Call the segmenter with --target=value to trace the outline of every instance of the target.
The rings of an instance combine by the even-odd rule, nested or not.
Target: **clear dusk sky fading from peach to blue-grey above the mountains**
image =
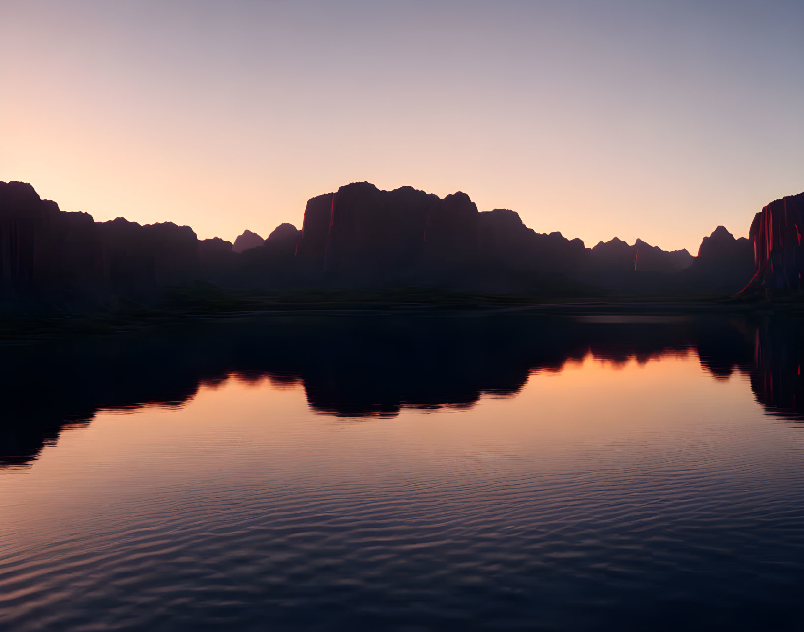
[[[368,181],[697,252],[804,191],[804,2],[0,0],[0,180],[233,240]]]

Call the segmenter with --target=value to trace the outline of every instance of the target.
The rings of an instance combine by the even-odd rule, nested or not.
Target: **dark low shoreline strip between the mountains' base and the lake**
[[[5,314],[0,341],[62,335],[105,335],[203,320],[259,320],[290,316],[493,316],[545,315],[804,315],[798,293],[784,291],[715,297],[627,295],[539,297],[461,293],[442,289],[235,290],[211,285],[164,288],[155,306],[121,302],[116,310]]]

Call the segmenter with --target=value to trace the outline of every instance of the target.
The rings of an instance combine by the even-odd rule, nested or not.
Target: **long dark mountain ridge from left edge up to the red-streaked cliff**
[[[749,246],[751,248],[749,248]],[[30,184],[0,183],[0,301],[5,306],[154,302],[158,289],[199,281],[232,288],[427,286],[592,295],[733,293],[755,272],[752,242],[719,227],[698,256],[616,237],[585,248],[535,232],[510,209],[478,211],[468,195],[352,183],[306,206],[301,230],[265,240],[199,240],[187,226],[94,222],[60,211]],[[596,290],[597,288],[597,290]]]

